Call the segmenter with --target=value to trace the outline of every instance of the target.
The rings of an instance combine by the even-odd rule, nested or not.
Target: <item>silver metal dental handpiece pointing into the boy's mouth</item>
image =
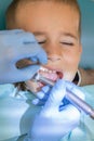
[[[45,85],[50,85],[51,87],[53,87],[55,84],[52,80],[41,76],[40,74],[36,74],[35,79]],[[90,117],[94,119],[94,110],[91,107],[91,105],[71,92],[68,88],[66,99],[69,100],[78,110],[83,111],[86,115],[90,115]]]

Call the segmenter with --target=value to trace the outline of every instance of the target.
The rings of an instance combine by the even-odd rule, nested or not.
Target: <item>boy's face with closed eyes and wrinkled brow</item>
[[[21,8],[16,21],[17,27],[31,31],[48,53],[44,67],[50,72],[43,75],[56,78],[54,70],[62,72],[63,79],[72,81],[81,54],[79,15],[75,9],[57,2],[29,3]]]

